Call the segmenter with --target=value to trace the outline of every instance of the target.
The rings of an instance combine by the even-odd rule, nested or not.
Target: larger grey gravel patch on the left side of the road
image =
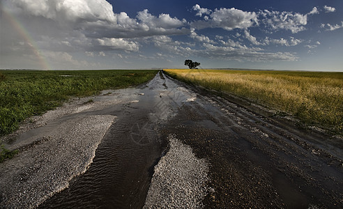
[[[0,208],[34,208],[84,173],[115,116],[72,118],[0,164]]]

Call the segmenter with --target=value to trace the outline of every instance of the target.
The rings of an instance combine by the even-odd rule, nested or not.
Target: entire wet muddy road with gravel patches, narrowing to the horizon
[[[0,208],[343,208],[343,141],[158,73],[1,139]]]

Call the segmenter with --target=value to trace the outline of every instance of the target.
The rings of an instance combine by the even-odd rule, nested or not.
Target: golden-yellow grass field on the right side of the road
[[[231,93],[317,125],[343,132],[343,72],[165,70],[184,82]]]

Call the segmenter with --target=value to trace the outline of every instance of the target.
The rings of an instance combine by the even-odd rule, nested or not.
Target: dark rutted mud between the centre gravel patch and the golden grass
[[[209,160],[206,208],[342,208],[342,149],[326,143],[334,137],[189,88],[197,99],[163,131]]]

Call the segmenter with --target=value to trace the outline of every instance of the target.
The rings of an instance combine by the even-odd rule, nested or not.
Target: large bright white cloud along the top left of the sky
[[[148,10],[131,18],[125,12],[114,13],[112,5],[105,0],[5,1],[12,13],[28,20],[26,24],[49,22],[45,27],[50,28],[46,31],[73,29],[91,38],[137,38],[190,33],[189,29],[181,28],[187,24],[185,20],[170,17],[169,14],[156,17]]]

